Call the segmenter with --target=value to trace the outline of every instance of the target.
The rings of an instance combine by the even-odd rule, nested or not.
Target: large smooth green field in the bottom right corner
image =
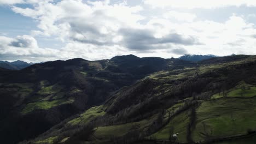
[[[196,110],[195,142],[207,139],[245,135],[256,129],[256,98],[220,98],[203,101]]]

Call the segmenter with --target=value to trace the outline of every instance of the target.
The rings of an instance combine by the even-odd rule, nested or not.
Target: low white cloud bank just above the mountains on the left
[[[36,39],[30,35],[16,38],[0,36],[0,60],[27,62],[54,61],[82,57],[89,60],[112,58],[117,55],[129,54],[125,47],[96,46],[84,43],[68,43],[60,49],[40,48]]]

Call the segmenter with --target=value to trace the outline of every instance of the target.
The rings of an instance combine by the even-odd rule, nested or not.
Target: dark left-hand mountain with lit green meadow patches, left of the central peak
[[[94,76],[103,68],[100,62],[72,59],[5,74],[0,88],[1,141],[28,139],[80,110],[101,104],[120,87],[115,84],[119,80]],[[134,80],[128,74],[123,78]]]

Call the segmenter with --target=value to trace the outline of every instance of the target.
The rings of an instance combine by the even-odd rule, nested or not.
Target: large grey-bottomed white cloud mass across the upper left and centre
[[[33,31],[33,34],[56,35],[68,43],[76,41],[96,46],[119,45],[137,52],[168,48],[168,44],[199,44],[198,39],[191,35],[169,30],[161,34],[161,38],[155,37],[158,33],[156,29],[139,23],[144,19],[138,14],[143,8],[131,7],[126,3],[110,5],[109,1],[83,3],[80,0],[65,0],[56,4],[39,2],[33,9],[14,6],[13,10],[39,21],[41,32]]]

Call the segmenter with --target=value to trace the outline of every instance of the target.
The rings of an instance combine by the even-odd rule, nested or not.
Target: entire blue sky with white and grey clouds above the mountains
[[[0,60],[256,55],[255,0],[0,0]]]

